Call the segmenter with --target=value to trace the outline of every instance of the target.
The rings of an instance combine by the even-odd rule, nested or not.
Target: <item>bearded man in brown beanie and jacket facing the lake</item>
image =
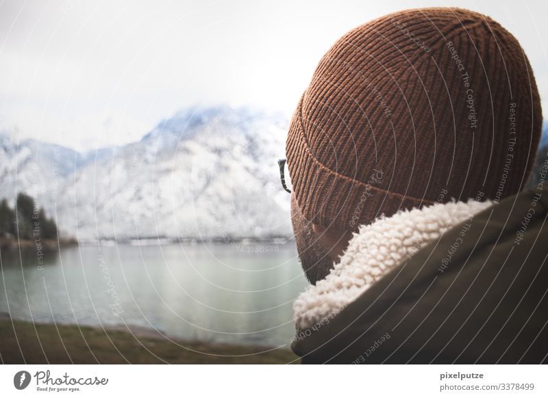
[[[406,10],[327,51],[286,145],[303,363],[547,362],[541,123],[488,16]]]

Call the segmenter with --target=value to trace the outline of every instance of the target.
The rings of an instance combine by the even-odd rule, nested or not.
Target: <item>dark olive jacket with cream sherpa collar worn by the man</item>
[[[307,363],[548,362],[548,185],[381,218],[295,302]]]

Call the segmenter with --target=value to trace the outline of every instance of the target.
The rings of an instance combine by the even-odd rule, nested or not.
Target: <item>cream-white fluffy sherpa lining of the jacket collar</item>
[[[332,317],[356,300],[390,269],[412,257],[453,226],[490,207],[492,201],[436,203],[422,209],[399,211],[360,226],[340,263],[323,280],[310,285],[295,303],[299,330]]]

